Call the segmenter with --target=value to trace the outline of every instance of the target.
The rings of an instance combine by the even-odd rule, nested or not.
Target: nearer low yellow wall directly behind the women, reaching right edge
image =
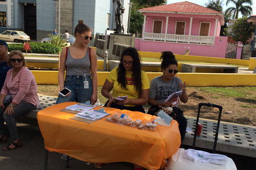
[[[58,84],[58,71],[31,71],[37,84]],[[103,86],[109,72],[97,72],[98,86]],[[147,72],[151,81],[155,77],[162,75],[157,72]],[[225,74],[225,73],[179,73],[182,81],[186,81],[187,86],[256,86],[256,74]]]

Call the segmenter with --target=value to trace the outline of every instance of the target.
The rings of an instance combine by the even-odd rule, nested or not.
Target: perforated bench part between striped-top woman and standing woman
[[[38,95],[39,97],[39,106],[37,109],[30,111],[29,113],[25,114],[26,117],[36,118],[37,112],[41,111],[42,109],[55,105],[57,97],[53,96],[44,96]]]

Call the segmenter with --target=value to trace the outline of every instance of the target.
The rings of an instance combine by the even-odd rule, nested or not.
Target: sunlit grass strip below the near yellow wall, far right
[[[226,97],[254,98],[256,87],[200,87],[199,89],[209,94]]]

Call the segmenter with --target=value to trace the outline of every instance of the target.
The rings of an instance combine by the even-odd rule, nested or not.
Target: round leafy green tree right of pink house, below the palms
[[[251,38],[255,25],[252,22],[248,22],[245,16],[244,18],[238,19],[228,28],[231,29],[231,32],[227,32],[227,35],[233,37],[234,41],[241,41],[243,44],[248,44],[247,41]]]

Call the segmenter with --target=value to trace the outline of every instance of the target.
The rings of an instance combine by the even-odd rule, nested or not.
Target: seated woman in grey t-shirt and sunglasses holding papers
[[[187,103],[188,95],[186,93],[186,82],[182,84],[180,78],[175,77],[178,73],[178,62],[172,52],[163,52],[161,58],[161,70],[163,75],[154,78],[150,82],[149,100],[148,104],[151,105],[148,114],[154,115],[160,108],[158,106],[170,107],[172,101],[165,103],[165,99],[175,91],[182,90],[180,100]],[[179,130],[181,134],[181,141],[184,139],[187,128],[187,120],[183,116],[183,112],[173,107],[173,111],[177,114],[176,121],[179,123]]]

